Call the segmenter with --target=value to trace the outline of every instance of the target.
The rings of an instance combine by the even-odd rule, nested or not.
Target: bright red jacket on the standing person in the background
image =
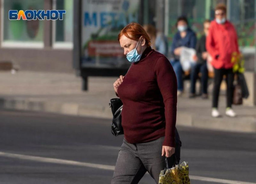
[[[232,53],[239,53],[239,49],[236,30],[229,21],[224,24],[218,24],[215,20],[211,22],[206,37],[206,50],[213,58],[212,65],[214,68],[230,69],[233,67],[233,63],[231,63]]]

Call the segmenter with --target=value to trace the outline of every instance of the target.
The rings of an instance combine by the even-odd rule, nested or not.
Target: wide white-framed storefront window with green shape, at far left
[[[2,0],[2,46],[43,47],[43,21],[9,20],[9,10],[41,10],[44,0]],[[2,27],[2,26],[1,26]]]

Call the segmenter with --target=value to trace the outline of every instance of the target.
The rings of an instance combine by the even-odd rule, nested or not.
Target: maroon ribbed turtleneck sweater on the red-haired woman
[[[163,146],[175,147],[177,79],[168,59],[148,47],[133,63],[117,89],[123,102],[124,138],[131,144],[165,136]]]

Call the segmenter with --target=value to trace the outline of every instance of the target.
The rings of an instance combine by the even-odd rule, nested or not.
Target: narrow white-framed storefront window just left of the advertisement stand
[[[53,9],[66,10],[63,20],[53,21],[53,46],[73,48],[73,0],[54,0]]]

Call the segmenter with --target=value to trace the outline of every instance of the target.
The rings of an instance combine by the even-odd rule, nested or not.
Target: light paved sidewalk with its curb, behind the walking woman
[[[116,77],[89,77],[89,90],[81,90],[75,74],[20,71],[0,72],[0,108],[45,111],[68,115],[108,118],[109,100],[115,98]],[[211,99],[178,99],[177,125],[236,132],[256,132],[256,107],[234,106],[238,116],[226,117],[225,96],[220,97],[223,117],[211,117]]]

